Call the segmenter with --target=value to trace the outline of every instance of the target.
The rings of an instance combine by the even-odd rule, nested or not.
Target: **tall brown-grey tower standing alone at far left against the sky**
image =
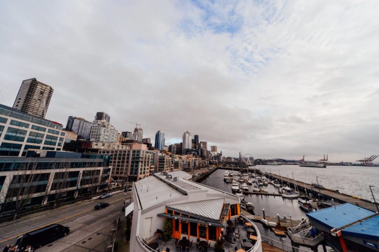
[[[13,108],[45,118],[54,89],[36,78],[23,80]]]

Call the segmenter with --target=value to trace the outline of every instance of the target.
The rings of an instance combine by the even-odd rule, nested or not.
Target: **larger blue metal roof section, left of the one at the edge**
[[[341,228],[345,225],[374,215],[375,212],[350,203],[345,203],[335,207],[325,208],[316,212],[307,213],[306,216],[311,221],[328,227],[329,229]]]

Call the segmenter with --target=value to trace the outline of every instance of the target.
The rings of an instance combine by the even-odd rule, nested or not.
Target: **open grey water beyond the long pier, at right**
[[[341,193],[373,201],[369,185],[374,185],[375,199],[379,199],[378,166],[328,166],[327,168],[300,167],[298,165],[257,165],[256,169],[308,184],[317,183]],[[377,200],[378,201],[378,200]]]

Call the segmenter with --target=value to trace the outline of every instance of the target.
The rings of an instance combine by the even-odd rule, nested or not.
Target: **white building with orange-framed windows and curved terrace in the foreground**
[[[155,173],[134,183],[133,202],[125,208],[125,216],[133,212],[129,251],[146,252],[151,242],[175,251],[175,239],[187,239],[194,245],[199,240],[213,249],[222,234],[227,234],[227,225],[233,223],[237,223],[235,229],[242,241],[248,237],[244,226],[234,221],[240,218],[241,223],[247,222],[256,230],[257,242],[246,251],[262,252],[258,227],[240,214],[240,198],[193,182],[189,180],[191,177],[183,171]],[[155,236],[155,231],[167,226],[172,228],[173,239],[162,242]],[[235,246],[240,247],[239,242]]]

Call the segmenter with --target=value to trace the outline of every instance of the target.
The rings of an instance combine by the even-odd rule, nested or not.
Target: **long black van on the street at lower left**
[[[46,244],[54,242],[70,233],[70,228],[60,224],[51,224],[38,228],[32,232],[17,237],[16,243],[18,247],[26,247],[28,245],[38,249]]]

